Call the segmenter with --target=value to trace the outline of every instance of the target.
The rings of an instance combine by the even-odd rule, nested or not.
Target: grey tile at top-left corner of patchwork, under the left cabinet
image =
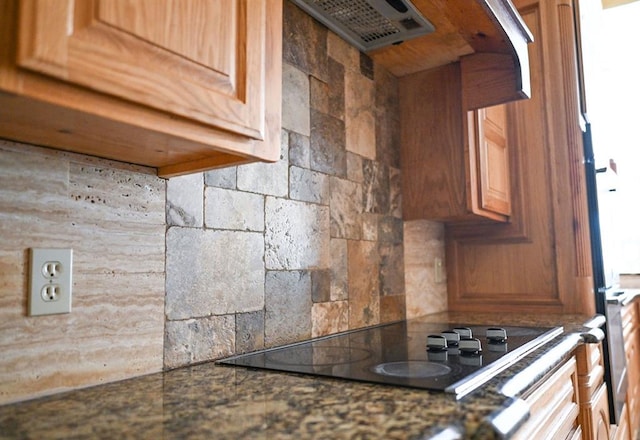
[[[167,181],[167,224],[202,227],[204,177],[202,173]]]

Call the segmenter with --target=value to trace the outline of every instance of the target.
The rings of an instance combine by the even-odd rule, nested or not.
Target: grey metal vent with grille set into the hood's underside
[[[409,0],[293,0],[363,52],[399,44],[435,28]]]

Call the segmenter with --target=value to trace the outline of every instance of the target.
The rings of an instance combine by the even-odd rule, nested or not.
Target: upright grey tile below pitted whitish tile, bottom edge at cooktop
[[[269,271],[265,290],[265,345],[281,345],[311,337],[309,273]]]

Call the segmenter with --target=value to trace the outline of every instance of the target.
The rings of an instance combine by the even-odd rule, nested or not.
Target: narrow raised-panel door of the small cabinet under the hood
[[[481,207],[498,214],[511,214],[509,150],[506,109],[497,105],[477,111],[477,157]]]

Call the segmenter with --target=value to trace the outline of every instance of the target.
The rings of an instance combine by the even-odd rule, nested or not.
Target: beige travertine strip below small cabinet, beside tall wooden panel
[[[444,262],[444,225],[428,220],[404,223],[407,318],[447,310],[447,283],[435,282],[434,259]]]

